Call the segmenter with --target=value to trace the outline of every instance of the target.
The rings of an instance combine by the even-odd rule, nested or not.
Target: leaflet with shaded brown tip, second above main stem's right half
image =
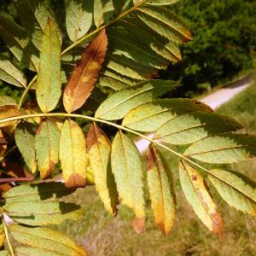
[[[156,100],[132,109],[122,125],[137,131],[156,131],[167,121],[195,111],[212,112],[212,109],[204,103],[189,99]]]

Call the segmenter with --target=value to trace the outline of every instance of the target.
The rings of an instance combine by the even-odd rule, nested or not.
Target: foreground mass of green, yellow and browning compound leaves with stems
[[[84,29],[84,35],[78,36],[78,27],[82,25],[75,23],[69,26],[67,34],[70,40],[66,49],[62,49],[66,42],[61,44],[60,28],[48,1],[20,1],[17,9],[21,17],[26,12],[34,14],[33,17],[23,16],[21,24],[5,16],[0,18],[1,36],[10,52],[21,62],[20,73],[34,75],[33,78],[27,77],[30,82],[25,84],[26,89],[18,106],[6,96],[0,100],[1,157],[5,160],[10,152],[15,150],[18,153],[16,149],[19,149],[20,160],[26,163],[15,163],[23,171],[22,174],[17,172],[14,176],[7,170],[1,178],[1,182],[5,183],[3,190],[9,190],[2,195],[1,214],[11,255],[43,252],[46,255],[85,255],[74,241],[44,226],[61,224],[67,218],[80,218],[83,209],[65,202],[62,197],[91,183],[96,184],[96,191],[108,212],[116,215],[118,205],[129,207],[136,217],[133,227],[141,233],[146,216],[145,176],[155,222],[166,235],[174,222],[176,200],[172,172],[167,168],[159,148],[165,148],[179,158],[184,194],[209,230],[220,237],[222,223],[200,172],[208,174],[219,194],[231,206],[253,214],[247,206],[237,206],[234,203],[236,198],[230,194],[234,188],[246,188],[245,196],[250,196],[254,204],[255,191],[247,183],[240,183],[240,188],[236,184],[239,178],[233,177],[233,174],[226,175],[227,179],[223,181],[224,166],[221,165],[253,158],[256,155],[256,137],[243,134],[239,131],[243,126],[235,119],[212,113],[212,109],[201,102],[159,99],[177,87],[172,80],[154,79],[161,67],[167,65],[166,60],[170,61],[165,52],[170,52],[171,44],[182,44],[191,39],[183,22],[170,10],[172,3],[176,2],[144,0],[125,1],[117,5],[117,1],[95,1],[94,20],[90,28]],[[79,1],[69,1],[67,8],[71,6],[76,11],[79,9],[79,15],[87,12]],[[69,15],[73,16],[73,10],[66,16],[67,20],[73,20]],[[131,38],[129,29],[124,25],[130,22],[127,23],[127,20],[133,20],[132,26],[143,24],[147,27],[148,41],[143,41],[141,35]],[[26,22],[30,24],[26,26]],[[166,50],[157,50],[156,44],[151,47],[150,38],[154,43],[168,45]],[[128,44],[131,42],[133,47]],[[13,78],[9,79],[9,83],[17,85],[16,67],[5,65],[4,68],[5,73],[7,70]],[[69,76],[68,82],[61,79],[61,73]],[[104,79],[105,84],[101,84]],[[65,81],[63,90],[62,80]],[[118,85],[113,85],[117,80]],[[32,92],[32,88],[36,91]],[[84,102],[90,99],[91,94],[96,97],[97,91],[105,96],[99,100],[93,117],[86,114],[91,108],[86,108]],[[29,93],[32,102],[25,105]],[[89,124],[86,123],[83,130],[77,119],[83,119],[84,123],[93,121],[89,131],[86,128]],[[122,125],[119,125],[120,119],[123,119]],[[96,126],[95,122],[102,127]],[[102,131],[105,130],[104,125],[117,129],[112,143]],[[143,131],[153,131],[155,137],[151,139]],[[128,134],[144,137],[151,143],[147,174],[143,172],[141,155]],[[184,144],[186,148],[173,149],[165,142]],[[60,168],[57,167],[59,160]],[[218,164],[220,169],[211,170],[201,162]],[[26,166],[29,174],[23,170]],[[38,172],[43,179],[54,173],[62,174],[65,185],[38,183],[41,181]],[[25,174],[27,177],[22,177]],[[21,184],[12,189],[9,182]],[[221,182],[232,188],[230,192],[219,189]],[[7,226],[6,215],[16,223]],[[9,234],[28,247],[13,248]]]

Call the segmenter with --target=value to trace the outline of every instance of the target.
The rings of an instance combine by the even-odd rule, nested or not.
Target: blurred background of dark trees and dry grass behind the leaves
[[[61,12],[65,1],[51,2]],[[216,111],[235,117],[248,132],[256,134],[256,1],[181,0],[175,11],[189,26],[194,40],[183,46],[183,61],[168,67],[161,78],[183,84],[176,96],[205,99],[215,93],[212,102],[216,102],[216,95],[229,97],[229,101],[216,106]],[[0,0],[0,15],[3,14],[17,19],[14,1]],[[1,35],[0,55],[9,56]],[[224,93],[227,86],[230,90]],[[233,96],[233,89],[239,87],[241,92]],[[18,98],[19,93],[0,81],[0,95]],[[129,209],[123,207],[113,219],[103,209],[94,187],[78,189],[69,196],[68,201],[83,205],[86,214],[79,221],[66,221],[58,229],[75,237],[95,256],[256,255],[256,220],[227,207],[212,190],[224,218],[223,240],[218,241],[186,203],[177,179],[177,159],[168,156],[168,160],[177,191],[177,219],[169,236],[164,237],[155,227],[149,207],[145,231],[138,236],[131,228],[133,215]],[[255,160],[232,168],[256,181]]]

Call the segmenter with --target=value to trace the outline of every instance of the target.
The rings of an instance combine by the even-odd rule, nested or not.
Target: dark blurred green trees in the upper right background
[[[193,96],[251,69],[255,59],[255,1],[183,0],[177,12],[186,20],[193,41],[183,49],[183,61],[165,77],[178,79],[183,93]]]

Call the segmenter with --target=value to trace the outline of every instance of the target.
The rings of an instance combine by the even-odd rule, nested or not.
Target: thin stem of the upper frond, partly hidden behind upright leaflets
[[[90,32],[89,34],[85,35],[83,38],[80,38],[78,41],[76,41],[75,43],[69,45],[66,49],[64,49],[61,52],[61,56],[62,55],[66,55],[68,51],[70,51],[71,49],[75,48],[76,46],[78,46],[79,44],[82,44],[86,39],[90,38],[91,36],[95,35],[97,32],[100,32],[102,29],[111,26],[113,23],[121,20],[125,15],[129,15],[131,12],[133,12],[134,10],[136,10],[140,5],[142,5],[143,3],[146,3],[148,0],[143,0],[140,3],[137,3],[135,6],[133,6],[131,9],[128,9],[127,11],[125,11],[124,13],[120,14],[118,17],[116,17],[115,19],[111,20],[110,22],[108,22],[105,25],[99,26],[98,28],[96,28],[95,31]],[[25,100],[25,97],[28,93],[28,91],[31,89],[32,84],[37,80],[37,75],[34,76],[34,78],[31,80],[31,82],[26,86],[26,90],[24,90],[22,96],[20,97],[20,102],[19,102],[19,109],[22,107],[22,104]]]

